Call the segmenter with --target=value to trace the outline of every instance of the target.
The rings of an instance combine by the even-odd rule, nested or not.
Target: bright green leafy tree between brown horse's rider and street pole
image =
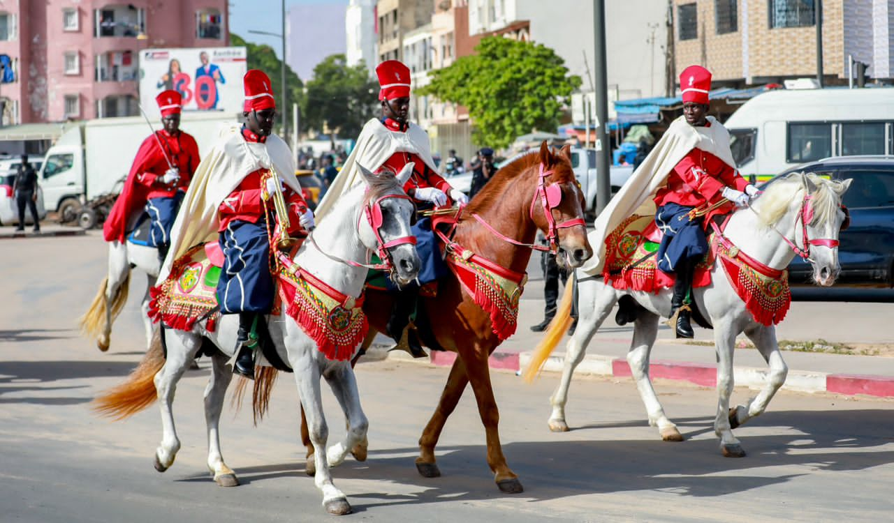
[[[549,47],[505,37],[486,37],[477,54],[432,71],[420,95],[468,107],[477,143],[506,147],[532,129],[559,126],[562,106],[580,86]]]

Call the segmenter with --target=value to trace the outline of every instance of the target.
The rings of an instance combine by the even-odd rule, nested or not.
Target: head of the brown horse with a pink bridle
[[[593,249],[586,239],[584,193],[571,169],[570,146],[552,154],[544,141],[537,159],[539,165],[531,167],[537,171],[531,220],[544,232],[550,247],[565,254],[566,265],[580,267],[593,255]]]

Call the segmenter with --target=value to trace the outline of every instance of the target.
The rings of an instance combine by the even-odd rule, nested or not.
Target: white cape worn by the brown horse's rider
[[[394,153],[417,154],[423,162],[437,172],[438,168],[432,159],[431,145],[428,142],[428,134],[415,123],[409,124],[407,132],[392,131],[387,129],[381,121],[372,119],[367,121],[357,138],[357,145],[348,156],[348,160],[342,165],[342,170],[335,177],[333,183],[326,190],[323,200],[316,206],[314,212],[317,220],[325,217],[331,211],[335,202],[354,186],[363,183],[358,165],[375,172],[382,167]]]

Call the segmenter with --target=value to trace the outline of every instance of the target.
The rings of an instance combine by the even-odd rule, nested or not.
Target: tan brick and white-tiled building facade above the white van
[[[675,65],[696,63],[718,85],[746,87],[815,77],[812,0],[674,0]],[[871,79],[894,78],[894,0],[822,2],[824,83],[848,82],[849,61]]]

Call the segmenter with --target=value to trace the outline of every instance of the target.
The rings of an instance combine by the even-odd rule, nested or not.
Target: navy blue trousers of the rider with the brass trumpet
[[[220,233],[223,270],[217,282],[221,313],[269,312],[274,303],[266,221],[233,220]]]

